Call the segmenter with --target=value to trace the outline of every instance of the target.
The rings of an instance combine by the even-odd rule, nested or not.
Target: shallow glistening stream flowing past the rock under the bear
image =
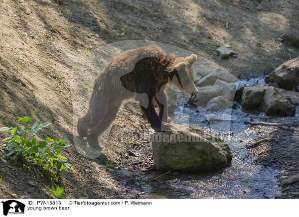
[[[262,78],[252,79],[239,82],[237,87],[262,83]],[[222,138],[233,153],[232,164],[214,173],[166,174],[156,182],[141,181],[140,185],[150,199],[275,199],[282,194],[277,181],[280,171],[255,163],[250,150],[243,149],[272,127],[252,127],[244,121],[287,123],[296,121],[298,115],[298,107],[295,117],[270,117],[242,108],[206,112],[204,108],[178,106],[170,116],[172,122],[190,123]],[[210,117],[224,121],[209,123]],[[147,178],[159,175],[148,175]]]

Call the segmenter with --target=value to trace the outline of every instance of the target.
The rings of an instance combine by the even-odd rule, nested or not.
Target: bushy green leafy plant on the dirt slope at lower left
[[[33,136],[51,123],[36,121],[31,127],[32,117],[19,117],[23,125],[18,127],[2,127],[0,131],[10,132],[10,136],[3,139],[2,147],[7,152],[6,156],[14,162],[37,166],[41,172],[47,171],[51,179],[61,183],[60,171],[71,166],[67,158],[61,155],[61,150],[70,146],[65,137],[58,141],[46,137],[45,141],[37,141]]]

